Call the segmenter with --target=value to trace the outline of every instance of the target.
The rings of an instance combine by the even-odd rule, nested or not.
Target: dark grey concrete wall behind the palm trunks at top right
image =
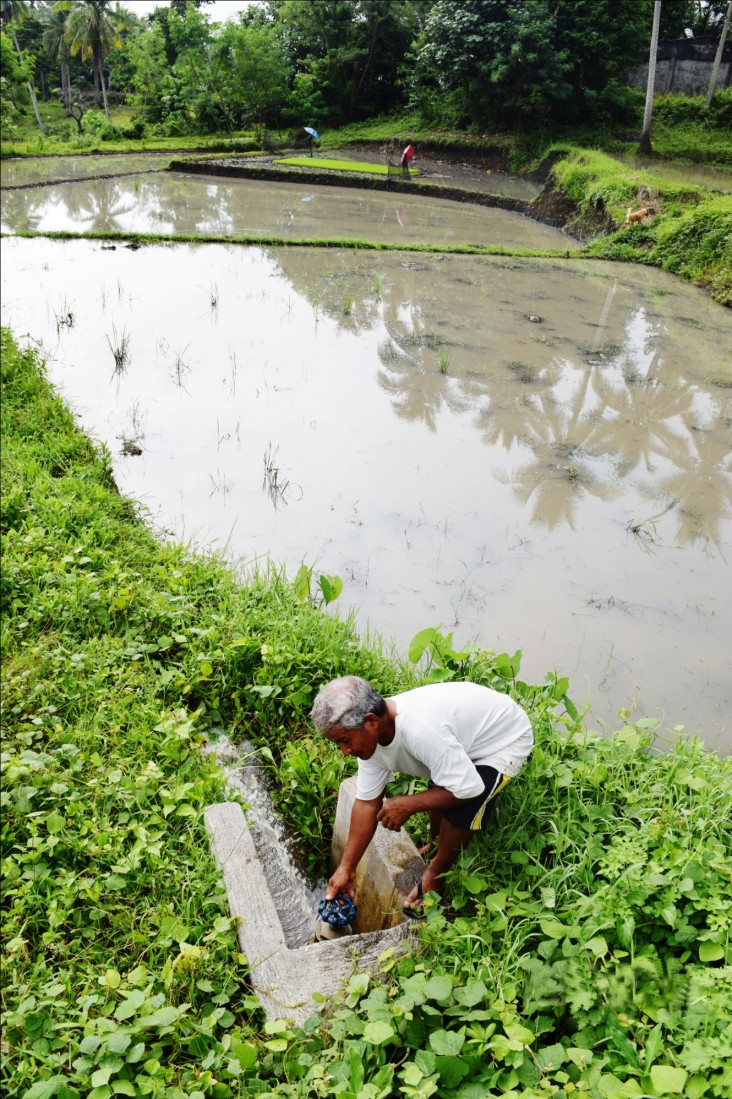
[[[699,96],[707,95],[719,38],[679,38],[678,42],[662,42],[656,54],[655,95]],[[633,88],[645,91],[648,66],[640,65],[629,75],[628,82]],[[722,62],[717,77],[717,88],[729,88],[732,84],[732,42],[724,44]]]

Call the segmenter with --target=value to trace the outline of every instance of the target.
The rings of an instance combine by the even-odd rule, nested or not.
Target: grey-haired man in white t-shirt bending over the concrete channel
[[[348,837],[326,898],[353,897],[356,867],[378,824],[398,832],[413,813],[426,812],[430,842],[420,854],[432,857],[404,899],[404,910],[420,914],[423,893],[443,892],[445,873],[529,756],[529,718],[507,695],[478,684],[431,684],[384,699],[357,676],[326,684],[311,718],[344,755],[358,759]],[[428,778],[428,789],[385,799],[395,771]]]

